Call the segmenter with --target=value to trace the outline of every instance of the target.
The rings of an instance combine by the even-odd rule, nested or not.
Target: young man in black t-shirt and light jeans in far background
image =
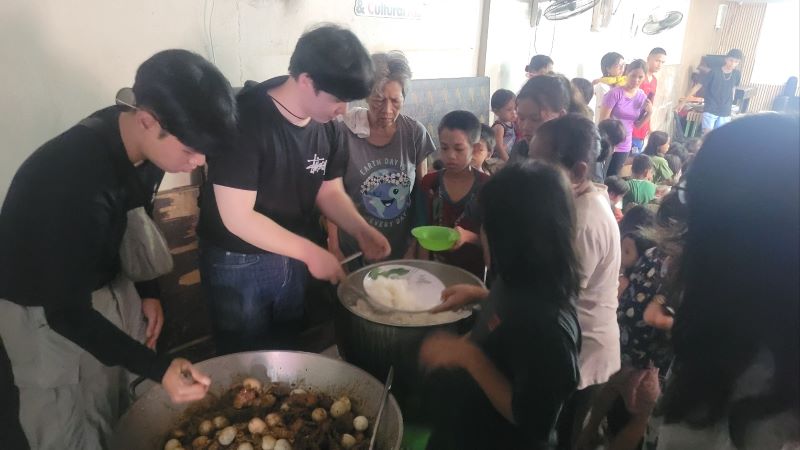
[[[725,64],[711,69],[703,81],[692,86],[687,94],[687,97],[693,97],[703,89],[703,134],[731,121],[733,97],[742,80],[741,72],[736,70],[741,60],[742,51],[732,49],[725,56]]]

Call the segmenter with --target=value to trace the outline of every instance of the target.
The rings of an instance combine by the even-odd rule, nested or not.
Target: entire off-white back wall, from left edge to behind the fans
[[[591,31],[592,12],[563,21],[542,17],[531,27],[531,0],[417,2],[424,5],[418,20],[358,17],[356,0],[3,0],[0,200],[36,147],[109,105],[118,88],[132,83],[138,64],[165,48],[198,52],[240,85],[285,73],[300,34],[328,21],[353,29],[370,51],[403,50],[415,78],[485,74],[492,91],[516,91],[537,53],[551,55],[568,77],[593,79],[608,51],[630,61],[661,46],[669,56],[658,75],[652,123],[667,130],[691,69],[715,50],[724,31],[714,27],[721,0],[613,2],[620,7],[599,31]],[[655,8],[681,11],[684,20],[657,36],[635,31]],[[168,177],[164,188],[188,181]]]

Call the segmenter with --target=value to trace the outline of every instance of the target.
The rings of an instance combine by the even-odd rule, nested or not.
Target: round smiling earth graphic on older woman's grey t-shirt
[[[411,181],[404,172],[379,169],[361,183],[361,201],[373,217],[391,220],[402,214],[409,203]]]

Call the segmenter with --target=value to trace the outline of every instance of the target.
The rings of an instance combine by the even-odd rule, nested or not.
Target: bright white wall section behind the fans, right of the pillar
[[[674,97],[676,78],[681,72],[686,51],[684,37],[692,19],[691,8],[704,0],[637,0],[612,2],[619,4],[605,28],[592,31],[593,12],[588,11],[566,20],[550,21],[544,16],[532,27],[530,1],[492,0],[489,14],[487,45],[487,75],[491,89],[518,91],[525,82],[524,67],[535,54],[550,55],[555,70],[569,78],[598,78],[600,58],[607,52],[621,53],[626,61],[645,58],[653,47],[663,47],[668,53],[667,66],[658,75],[659,90],[652,123],[654,129],[666,129],[669,124],[669,103]],[[541,8],[551,5],[539,2]],[[641,26],[651,13],[679,11],[684,20],[677,27],[655,36],[641,32]]]

